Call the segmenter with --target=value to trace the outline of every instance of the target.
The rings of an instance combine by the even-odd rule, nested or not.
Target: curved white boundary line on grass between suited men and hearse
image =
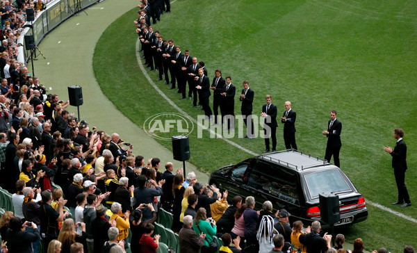
[[[182,113],[184,116],[188,117],[188,119],[191,120],[192,122],[194,122],[195,124],[197,124],[197,126],[202,127],[203,129],[206,128],[201,123],[197,122],[197,120],[195,120],[195,118],[191,117],[190,115],[188,115],[188,113],[186,113],[181,108],[179,108],[177,106],[177,104],[175,104],[169,97],[167,97],[167,95],[165,95],[165,93],[162,92],[162,90],[159,89],[158,86],[156,86],[154,81],[152,81],[149,74],[147,74],[147,72],[145,70],[145,67],[143,67],[142,61],[140,60],[141,56],[139,54],[139,50],[140,50],[139,49],[139,44],[140,44],[140,40],[138,39],[136,41],[136,58],[138,59],[138,64],[139,64],[140,70],[142,70],[142,72],[145,75],[147,81],[149,81],[149,83],[152,85],[152,87],[154,87],[154,89],[159,93],[159,95],[161,95],[173,108],[175,108],[177,111],[179,111],[179,113]],[[232,142],[231,140],[228,140],[228,139],[224,138],[221,134],[216,133],[215,131],[213,131],[209,128],[206,129],[206,130],[208,132],[210,132],[211,134],[215,135],[217,138],[220,138],[220,139],[224,140],[225,142],[229,143],[230,145],[233,145],[234,147],[237,147],[238,149],[240,149],[244,152],[247,152],[248,154],[252,154],[252,156],[258,156],[259,155],[259,154],[256,154],[256,153],[250,151],[249,149],[245,149],[245,147],[242,147],[242,146],[236,144],[235,142]]]

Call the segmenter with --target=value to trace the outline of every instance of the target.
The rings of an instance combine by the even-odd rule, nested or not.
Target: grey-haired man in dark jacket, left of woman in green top
[[[181,253],[200,252],[206,235],[197,233],[193,230],[193,217],[186,215],[184,217],[183,228],[179,231],[179,251]]]

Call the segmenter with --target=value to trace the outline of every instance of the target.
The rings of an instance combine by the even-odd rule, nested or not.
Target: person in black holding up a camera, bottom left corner
[[[38,240],[39,230],[35,223],[27,221],[22,224],[19,217],[10,218],[9,230],[6,233],[9,252],[31,253],[32,243]],[[32,228],[33,232],[26,229]]]

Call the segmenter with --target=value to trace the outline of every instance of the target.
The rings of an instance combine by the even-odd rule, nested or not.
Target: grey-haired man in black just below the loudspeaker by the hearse
[[[332,247],[330,242],[332,241],[332,235],[326,234],[320,236],[321,225],[320,222],[313,221],[311,223],[311,232],[307,234],[304,238],[300,238],[300,243],[306,245],[307,252],[309,253],[325,253],[327,250]]]

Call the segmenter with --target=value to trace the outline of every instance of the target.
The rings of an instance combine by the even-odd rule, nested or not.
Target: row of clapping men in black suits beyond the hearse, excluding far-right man
[[[138,30],[137,32],[142,42],[142,50],[145,55],[145,64],[147,64],[149,70],[157,69],[159,72],[159,78],[156,81],[163,80],[162,76],[164,75],[165,84],[171,84],[170,89],[175,89],[176,84],[178,84],[177,92],[181,94],[179,99],[186,99],[186,86],[188,83],[188,99],[193,99],[192,106],[197,106],[198,94],[199,105],[202,106],[206,119],[208,121],[214,120],[213,124],[219,124],[218,115],[220,108],[221,123],[226,123],[227,129],[233,130],[236,87],[231,83],[231,76],[223,79],[221,70],[215,70],[215,76],[210,85],[204,62],[200,61],[198,63],[196,57],[190,56],[190,51],[186,50],[182,54],[181,47],[174,46],[173,40],[163,40],[163,36],[158,31],[154,32],[152,26],[147,27],[143,25],[142,29],[138,28]],[[168,75],[168,72],[170,72],[170,75]],[[211,97],[210,90],[213,90],[213,112],[209,105],[209,98]],[[249,115],[252,115],[253,99],[254,91],[249,88],[249,82],[244,81],[239,101],[242,102],[240,112],[244,115],[246,127],[250,124],[250,127],[247,127],[246,138],[254,138],[254,125],[252,120],[248,120]],[[272,152],[274,152],[277,147],[277,106],[272,104],[272,97],[270,95],[267,95],[265,100],[266,104],[263,105],[261,116],[267,117],[267,119],[268,117],[270,118],[270,120],[266,121],[265,125],[267,127],[264,129],[266,135],[265,152],[270,151],[269,136],[272,139]],[[284,111],[281,117],[281,123],[284,124],[285,146],[286,149],[297,149],[295,142],[295,120],[297,113],[292,110],[290,101],[285,102],[285,108],[286,111]],[[227,115],[228,117],[225,117]],[[332,122],[335,118],[336,113],[334,111],[334,118],[331,113],[327,133],[323,131],[323,134],[328,137],[325,158],[329,161],[334,156],[334,163],[340,167],[338,153],[341,147],[341,123],[336,122],[338,124],[333,125]],[[224,119],[226,119],[226,122],[224,122]]]

